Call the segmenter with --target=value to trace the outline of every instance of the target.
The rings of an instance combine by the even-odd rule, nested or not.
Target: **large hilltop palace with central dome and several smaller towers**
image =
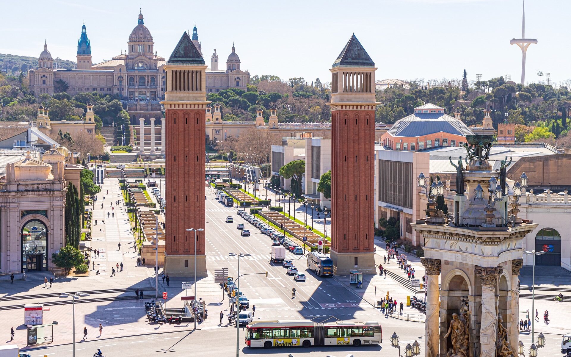
[[[202,51],[196,26],[192,31],[192,42]],[[137,25],[127,41],[123,53],[94,64],[91,55],[91,41],[87,37],[85,23],[77,45],[77,69],[57,69],[53,57],[47,50],[47,43],[39,57],[37,70],[29,71],[30,89],[36,97],[42,93],[54,94],[64,91],[71,95],[82,92],[118,94],[133,119],[160,118],[159,101],[164,98],[164,57],[155,49],[151,31],[144,25],[143,14],[139,13]],[[202,52],[201,52],[202,54]],[[211,57],[211,68],[206,71],[208,92],[237,87],[246,90],[250,73],[240,69],[240,58],[234,45],[228,56],[226,69],[219,69],[216,50]],[[138,123],[138,122],[137,122]]]

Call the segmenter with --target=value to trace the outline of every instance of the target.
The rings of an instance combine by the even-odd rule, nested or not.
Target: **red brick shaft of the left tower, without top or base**
[[[203,228],[205,128],[204,110],[166,110],[166,252],[194,254],[194,232]],[[204,232],[197,232],[196,254],[204,252]]]

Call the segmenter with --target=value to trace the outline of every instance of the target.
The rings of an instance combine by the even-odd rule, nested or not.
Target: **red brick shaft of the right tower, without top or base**
[[[331,248],[372,252],[375,111],[333,110],[331,122]]]

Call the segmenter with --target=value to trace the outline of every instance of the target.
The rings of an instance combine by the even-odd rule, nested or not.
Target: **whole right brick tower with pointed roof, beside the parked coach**
[[[331,259],[336,275],[375,274],[375,63],[353,35],[330,70]]]

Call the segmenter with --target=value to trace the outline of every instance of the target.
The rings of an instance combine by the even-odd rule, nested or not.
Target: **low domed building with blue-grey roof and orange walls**
[[[444,108],[427,103],[415,113],[396,121],[381,136],[390,150],[418,151],[438,146],[462,146],[472,131],[460,119],[444,113]]]

